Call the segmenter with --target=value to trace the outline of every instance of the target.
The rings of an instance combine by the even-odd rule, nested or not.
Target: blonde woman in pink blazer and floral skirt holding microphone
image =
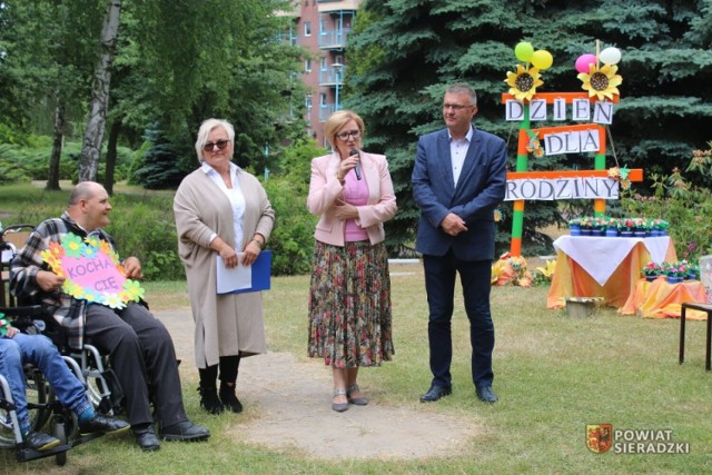
[[[383,155],[360,150],[364,121],[334,112],[324,125],[333,152],[312,160],[307,208],[320,216],[314,237],[309,289],[309,356],[334,373],[332,408],[366,405],[358,388],[360,366],[379,366],[394,354],[390,277],[384,221],[396,197]]]

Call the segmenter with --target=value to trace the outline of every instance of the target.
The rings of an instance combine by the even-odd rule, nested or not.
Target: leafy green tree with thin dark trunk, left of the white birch
[[[3,110],[2,117],[26,135],[53,136],[47,181],[50,190],[59,189],[59,160],[65,135],[71,131],[68,127],[83,117],[82,99],[89,91],[100,18],[96,7],[93,0],[38,0],[2,9],[0,44],[6,53],[0,75],[7,75],[7,82],[0,83],[8,87],[0,86],[0,97],[14,105]]]

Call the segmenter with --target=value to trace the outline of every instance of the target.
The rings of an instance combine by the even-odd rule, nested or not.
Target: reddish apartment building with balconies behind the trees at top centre
[[[288,40],[309,50],[305,58],[301,81],[305,97],[305,119],[308,133],[325,147],[324,121],[342,108],[346,43],[362,0],[298,0],[294,10],[283,12],[294,19]]]

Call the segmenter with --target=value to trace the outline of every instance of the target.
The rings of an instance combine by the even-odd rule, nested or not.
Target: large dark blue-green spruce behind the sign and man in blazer
[[[507,139],[515,156],[516,135],[503,120],[500,101],[522,40],[554,56],[540,91],[581,90],[575,59],[595,52],[596,40],[620,48],[622,99],[611,127],[617,162],[649,172],[686,162],[692,148],[709,140],[712,126],[710,13],[710,0],[366,0],[349,36],[345,105],[366,119],[367,145],[389,158],[398,199],[398,215],[387,224],[389,244],[413,239],[415,144],[442,127],[438,105],[447,85],[466,81],[478,91],[476,126]],[[530,164],[589,167],[570,156]],[[511,205],[502,209],[498,246],[506,249]],[[561,222],[555,204],[527,202],[524,249],[541,250],[546,239],[536,229],[553,222]]]

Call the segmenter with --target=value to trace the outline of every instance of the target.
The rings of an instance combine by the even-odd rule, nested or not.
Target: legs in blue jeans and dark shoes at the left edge
[[[126,422],[95,413],[83,384],[69,369],[49,338],[21,334],[6,320],[0,321],[4,323],[0,328],[0,374],[10,386],[20,433],[27,447],[43,452],[61,443],[56,437],[32,431],[22,369],[27,363],[44,375],[59,402],[77,415],[79,433],[82,436],[98,432],[111,434],[128,431],[129,425]]]

